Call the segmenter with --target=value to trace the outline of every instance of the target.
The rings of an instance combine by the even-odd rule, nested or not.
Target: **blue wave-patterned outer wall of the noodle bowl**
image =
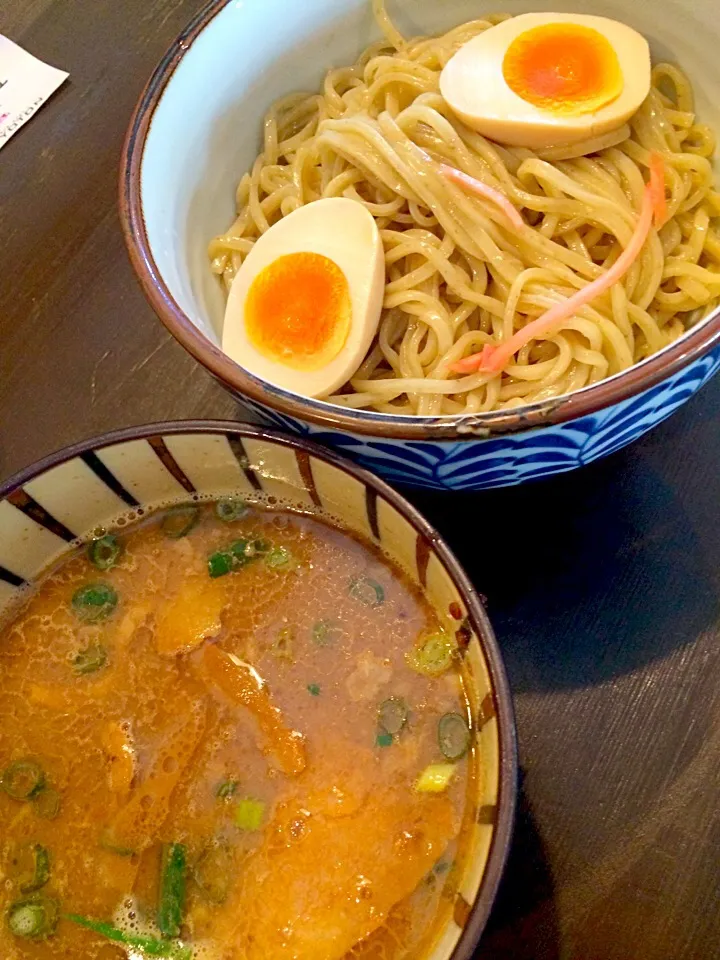
[[[662,423],[720,369],[720,347],[673,377],[598,413],[549,427],[463,441],[373,440],[304,423],[243,398],[264,420],[310,436],[386,480],[433,490],[482,490],[575,470]]]

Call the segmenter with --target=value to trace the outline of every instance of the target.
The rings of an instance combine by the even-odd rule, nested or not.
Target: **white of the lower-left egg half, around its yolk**
[[[319,370],[295,370],[276,362],[248,339],[245,304],[258,274],[279,257],[317,253],[334,261],[348,283],[350,330],[340,352]],[[345,197],[315,200],[283,217],[264,233],[233,280],[225,309],[222,347],[250,373],[306,397],[341,387],[362,363],[377,333],[385,291],[385,258],[377,224],[361,203]]]

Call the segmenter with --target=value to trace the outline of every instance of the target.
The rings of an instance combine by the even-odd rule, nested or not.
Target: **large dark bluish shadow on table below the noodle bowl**
[[[668,475],[631,448],[520,487],[409,492],[488,598],[517,692],[607,681],[716,621],[707,543]],[[712,525],[712,490],[695,494]]]

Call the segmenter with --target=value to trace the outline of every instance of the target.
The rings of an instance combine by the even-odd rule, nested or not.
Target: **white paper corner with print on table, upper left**
[[[0,34],[0,147],[37,113],[67,76]]]

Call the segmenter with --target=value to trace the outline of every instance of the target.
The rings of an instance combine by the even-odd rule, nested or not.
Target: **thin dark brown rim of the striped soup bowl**
[[[518,794],[518,747],[515,725],[515,710],[510,683],[505,669],[500,645],[495,636],[485,607],[460,561],[428,520],[402,494],[370,471],[357,466],[345,457],[320,444],[305,438],[288,436],[265,427],[239,423],[236,420],[171,420],[146,423],[135,427],[123,427],[99,434],[87,440],[73,443],[48,454],[35,463],[14,473],[0,483],[0,501],[18,488],[41,476],[54,467],[61,466],[82,454],[93,452],[114,444],[143,440],[156,436],[177,434],[209,434],[213,436],[234,435],[241,439],[265,440],[293,450],[302,450],[319,460],[350,474],[363,486],[370,487],[387,500],[403,516],[413,529],[432,546],[467,607],[468,617],[481,643],[490,676],[492,696],[498,731],[498,797],[497,817],[494,823],[485,871],[480,882],[470,914],[450,960],[471,960],[480,936],[485,929],[490,911],[497,896],[498,887],[507,863],[512,841],[515,810]]]

